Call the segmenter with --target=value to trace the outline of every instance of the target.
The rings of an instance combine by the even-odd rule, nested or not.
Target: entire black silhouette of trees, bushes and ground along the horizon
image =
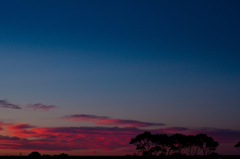
[[[136,145],[137,154],[126,156],[69,156],[41,155],[37,151],[28,156],[0,156],[0,159],[239,159],[239,155],[219,155],[215,153],[218,142],[206,134],[151,134],[144,132],[132,138],[130,144]],[[234,145],[240,151],[240,141]]]

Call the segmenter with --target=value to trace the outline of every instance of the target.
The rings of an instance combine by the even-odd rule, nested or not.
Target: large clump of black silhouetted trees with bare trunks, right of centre
[[[210,155],[218,147],[218,142],[206,134],[183,135],[151,134],[144,132],[132,138],[130,144],[136,145],[137,155]]]

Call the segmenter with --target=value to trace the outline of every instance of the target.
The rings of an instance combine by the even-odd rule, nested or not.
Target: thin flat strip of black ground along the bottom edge
[[[52,157],[42,156],[40,158],[28,156],[0,156],[0,159],[240,159],[238,156],[68,156]]]

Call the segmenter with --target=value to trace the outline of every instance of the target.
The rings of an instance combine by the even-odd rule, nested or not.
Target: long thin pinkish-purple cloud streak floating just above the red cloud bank
[[[137,120],[114,119],[106,116],[96,116],[87,114],[75,114],[65,116],[61,119],[72,121],[87,121],[98,125],[110,125],[118,127],[148,127],[148,126],[163,126],[163,123],[142,122]]]

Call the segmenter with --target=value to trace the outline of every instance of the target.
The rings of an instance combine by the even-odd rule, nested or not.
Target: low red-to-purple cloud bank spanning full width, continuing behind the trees
[[[133,154],[135,147],[129,145],[131,138],[149,131],[138,128],[119,127],[35,127],[27,123],[0,124],[4,128],[0,135],[0,149],[24,151],[84,151],[95,155]],[[168,135],[182,133],[185,135],[205,133],[220,143],[217,152],[225,153],[234,150],[240,131],[227,129],[188,129],[184,127],[166,127],[152,129],[152,134]],[[230,146],[228,146],[230,145]],[[81,154],[78,154],[81,155]],[[91,154],[88,154],[91,155]]]

